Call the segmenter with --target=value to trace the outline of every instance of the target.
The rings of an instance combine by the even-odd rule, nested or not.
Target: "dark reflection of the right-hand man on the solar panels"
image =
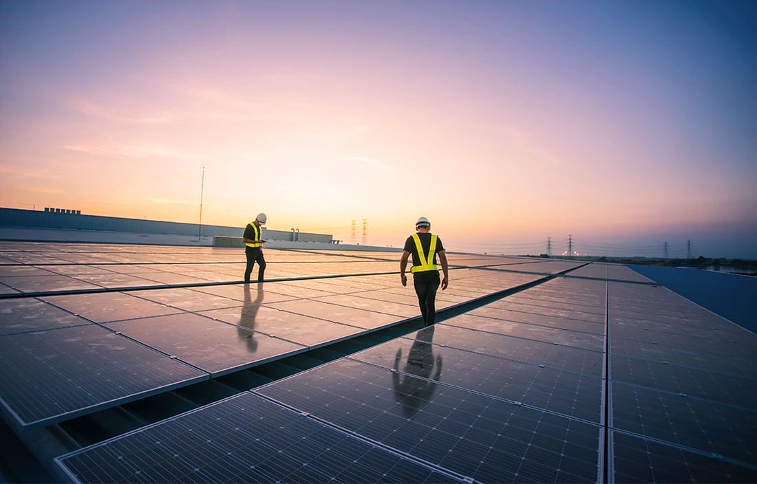
[[[402,359],[402,348],[397,349],[394,357],[394,399],[402,404],[405,417],[413,417],[418,411],[431,401],[441,377],[441,355],[434,355],[434,326],[425,327],[418,331],[407,362],[399,368]],[[436,368],[435,368],[436,367]],[[402,371],[404,374],[400,374]],[[434,376],[431,377],[433,372]],[[413,375],[413,376],[410,376]]]

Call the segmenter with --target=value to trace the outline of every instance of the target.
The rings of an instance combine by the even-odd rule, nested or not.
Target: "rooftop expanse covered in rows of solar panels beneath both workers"
[[[0,242],[5,478],[757,481],[757,335],[664,282],[448,253],[421,328],[397,253],[264,252]]]

